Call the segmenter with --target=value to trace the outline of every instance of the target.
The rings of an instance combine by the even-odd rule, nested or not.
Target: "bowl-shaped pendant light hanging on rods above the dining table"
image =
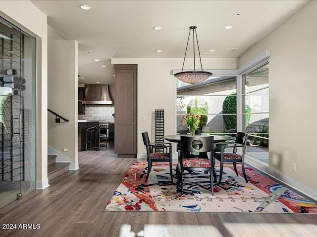
[[[197,39],[197,33],[196,33],[196,26],[191,26],[189,27],[189,35],[188,35],[188,40],[187,40],[187,45],[186,45],[186,50],[185,50],[185,56],[184,56],[184,61],[183,61],[183,67],[182,67],[182,72],[180,73],[175,73],[174,77],[189,84],[195,84],[202,82],[209,77],[211,77],[212,73],[210,72],[204,72],[203,71],[203,65],[202,65],[202,59],[200,57],[200,51],[199,51],[199,45],[198,45],[198,39]],[[188,47],[188,41],[190,37],[190,33],[193,30],[193,48],[194,48],[194,71],[190,72],[183,72],[184,69],[184,63],[185,63],[185,58],[186,58],[186,52],[187,52],[187,47]],[[200,66],[202,68],[202,71],[196,71],[195,67],[195,35],[196,35],[196,41],[197,41],[197,48],[198,48],[198,54],[199,54],[199,60],[200,60]]]

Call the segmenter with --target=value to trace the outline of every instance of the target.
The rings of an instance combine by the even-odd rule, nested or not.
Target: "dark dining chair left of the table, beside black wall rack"
[[[143,143],[147,149],[148,173],[145,182],[148,181],[153,162],[169,162],[170,179],[173,183],[172,143],[151,143],[148,132],[142,132]],[[163,152],[155,152],[154,148],[163,148]]]

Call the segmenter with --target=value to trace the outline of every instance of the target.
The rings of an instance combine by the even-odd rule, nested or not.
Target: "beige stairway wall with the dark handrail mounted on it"
[[[48,115],[48,145],[78,167],[78,42],[57,37],[50,28],[48,41],[48,108],[69,119],[55,123]],[[68,152],[63,152],[68,148]]]

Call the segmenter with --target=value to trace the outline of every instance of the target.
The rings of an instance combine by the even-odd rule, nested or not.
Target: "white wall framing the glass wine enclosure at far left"
[[[37,39],[37,188],[48,187],[47,175],[47,16],[31,1],[2,0],[0,16]]]

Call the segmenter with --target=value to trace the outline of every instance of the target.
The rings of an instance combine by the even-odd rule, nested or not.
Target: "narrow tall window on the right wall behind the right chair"
[[[243,127],[249,133],[246,154],[268,163],[268,63],[243,75]]]

